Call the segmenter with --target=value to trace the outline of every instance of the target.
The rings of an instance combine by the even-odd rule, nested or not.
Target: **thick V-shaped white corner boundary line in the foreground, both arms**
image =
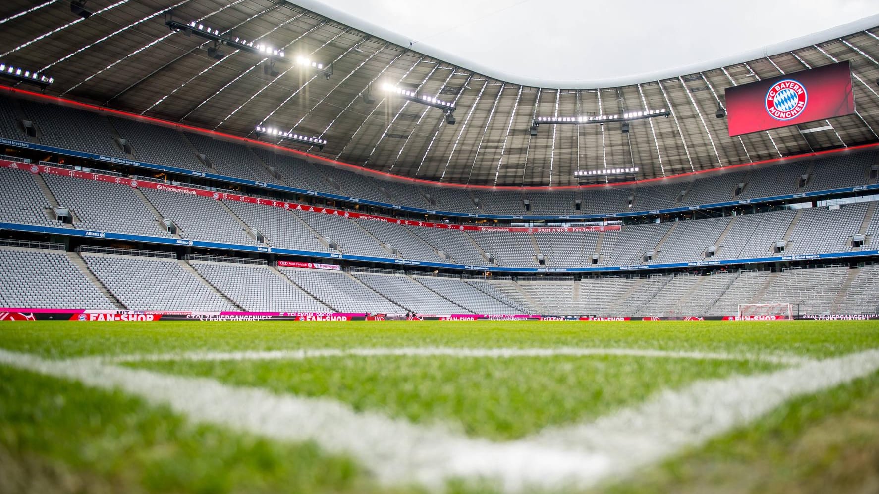
[[[594,421],[550,427],[508,442],[470,439],[441,425],[414,425],[358,412],[325,398],[276,395],[206,378],[105,365],[98,360],[45,360],[0,350],[0,364],[122,389],[169,405],[193,421],[229,426],[272,440],[314,440],[351,454],[385,483],[416,481],[440,489],[449,478],[482,477],[505,490],[588,487],[698,447],[746,425],[795,396],[829,389],[879,369],[879,350],[816,360],[767,374],[696,381]]]

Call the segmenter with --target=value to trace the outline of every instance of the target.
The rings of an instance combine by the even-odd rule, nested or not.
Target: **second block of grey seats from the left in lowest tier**
[[[238,310],[173,258],[84,253],[91,272],[131,310]]]

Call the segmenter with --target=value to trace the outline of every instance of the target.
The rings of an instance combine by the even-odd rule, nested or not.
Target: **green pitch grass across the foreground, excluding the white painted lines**
[[[0,347],[49,358],[367,346],[621,347],[782,352],[823,358],[879,347],[875,326],[870,321],[25,322],[0,324]],[[417,422],[457,422],[470,434],[493,439],[595,417],[694,379],[772,368],[754,362],[631,357],[345,357],[134,365],[280,392],[332,396]],[[82,491],[376,489],[352,461],[323,454],[313,445],[280,444],[217,427],[188,425],[185,418],[137,398],[6,367],[0,367],[0,379],[0,463],[5,465],[0,477],[7,480],[23,478],[33,483],[42,479],[50,486],[44,490],[66,490],[63,479],[74,478],[72,485]],[[787,403],[757,423],[712,440],[707,447],[647,469],[637,481],[606,488],[621,492],[757,490],[767,485],[775,491],[817,491],[817,486],[826,491],[858,490],[869,482],[875,486],[877,410],[879,376],[874,374]],[[848,461],[852,467],[840,471],[839,461]],[[18,472],[18,476],[9,472]],[[752,472],[765,482],[748,481]],[[380,489],[387,490],[387,486]],[[0,490],[25,489],[0,483]]]

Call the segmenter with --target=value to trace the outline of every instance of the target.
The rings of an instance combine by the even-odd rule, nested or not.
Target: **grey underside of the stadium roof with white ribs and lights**
[[[0,62],[53,76],[47,94],[229,134],[290,129],[327,143],[285,145],[407,177],[576,185],[575,171],[636,166],[639,178],[656,178],[879,140],[877,27],[661,81],[560,89],[494,80],[283,0],[90,0],[86,7],[90,18],[72,13],[69,0],[3,2]],[[220,47],[222,58],[208,56],[212,42],[169,29],[169,15],[287,55],[228,46]],[[715,117],[724,88],[846,60],[853,115],[738,137]],[[383,84],[454,103],[456,123]],[[628,133],[614,122],[541,126],[532,135],[537,116],[657,108],[671,115],[629,122]]]

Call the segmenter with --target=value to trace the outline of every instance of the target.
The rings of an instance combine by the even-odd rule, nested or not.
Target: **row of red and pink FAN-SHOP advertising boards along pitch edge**
[[[806,315],[797,319],[855,321],[879,314]],[[533,314],[368,314],[104,309],[0,309],[0,321],[770,321],[783,316],[537,316]]]

